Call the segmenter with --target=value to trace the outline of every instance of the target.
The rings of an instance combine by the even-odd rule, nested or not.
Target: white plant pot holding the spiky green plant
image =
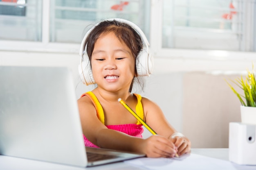
[[[256,124],[256,107],[240,106],[241,122]]]

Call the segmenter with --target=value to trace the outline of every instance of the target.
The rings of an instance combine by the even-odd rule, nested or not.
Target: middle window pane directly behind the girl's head
[[[134,22],[149,35],[149,11],[148,0],[52,0],[50,41],[81,43],[92,24],[115,17]]]

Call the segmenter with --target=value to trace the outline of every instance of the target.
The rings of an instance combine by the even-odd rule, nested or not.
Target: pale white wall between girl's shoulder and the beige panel
[[[168,122],[182,132],[182,97],[183,97],[183,73],[171,72],[151,75],[146,84],[143,96],[156,102],[165,114]],[[151,134],[144,128],[143,137]]]

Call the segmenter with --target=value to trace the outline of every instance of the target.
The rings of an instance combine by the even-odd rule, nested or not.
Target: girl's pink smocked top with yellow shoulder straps
[[[83,97],[85,95],[87,95],[92,100],[92,102],[94,103],[94,107],[97,111],[97,117],[104,124],[104,113],[103,113],[103,109],[101,107],[101,104],[99,103],[99,100],[97,99],[97,97],[92,92],[87,92],[87,93],[83,94],[81,97]],[[136,113],[143,120],[144,119],[144,113],[143,113],[143,107],[142,107],[142,104],[141,104],[141,96],[139,94],[134,94],[134,95],[137,97],[137,100],[138,100],[138,103],[136,105]],[[142,124],[139,121],[137,122],[137,124],[107,125],[106,127],[108,129],[113,129],[113,130],[116,130],[116,131],[120,131],[120,132],[126,133],[126,134],[131,135],[131,136],[135,136],[135,137],[142,137],[141,134],[144,131],[143,128],[142,128]],[[84,139],[85,146],[99,148],[99,146],[90,142],[84,135],[83,135],[83,139]]]

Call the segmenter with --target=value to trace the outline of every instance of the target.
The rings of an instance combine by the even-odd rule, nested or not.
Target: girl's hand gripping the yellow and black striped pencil
[[[147,157],[174,157],[177,149],[173,142],[166,137],[153,135],[144,140],[141,144],[142,152]]]

